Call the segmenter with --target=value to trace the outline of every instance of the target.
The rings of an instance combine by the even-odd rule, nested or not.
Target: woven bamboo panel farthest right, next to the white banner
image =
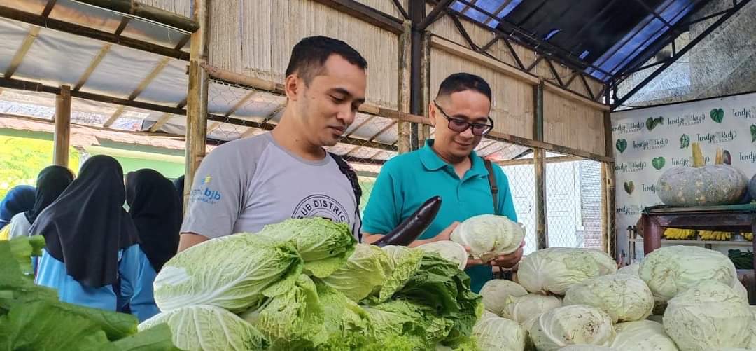
[[[544,90],[544,141],[605,154],[603,111]]]

